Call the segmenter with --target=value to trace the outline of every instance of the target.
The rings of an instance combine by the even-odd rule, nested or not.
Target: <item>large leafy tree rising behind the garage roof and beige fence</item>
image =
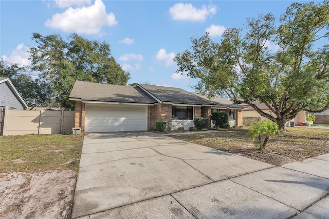
[[[69,94],[76,80],[125,85],[129,72],[122,70],[111,56],[109,44],[89,41],[78,34],[65,41],[59,34],[33,33],[37,44],[29,49],[31,69],[40,71],[40,80],[49,86],[45,106],[74,108]]]

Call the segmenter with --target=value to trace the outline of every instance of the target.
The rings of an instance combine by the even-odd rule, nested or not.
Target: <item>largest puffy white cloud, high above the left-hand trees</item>
[[[68,8],[63,13],[56,13],[45,22],[46,27],[61,29],[66,32],[98,34],[102,26],[113,26],[118,22],[113,13],[106,13],[105,5],[96,0],[94,5],[81,8]]]

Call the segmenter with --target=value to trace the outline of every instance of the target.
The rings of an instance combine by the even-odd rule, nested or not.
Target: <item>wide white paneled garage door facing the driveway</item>
[[[148,107],[86,103],[85,132],[147,131]]]

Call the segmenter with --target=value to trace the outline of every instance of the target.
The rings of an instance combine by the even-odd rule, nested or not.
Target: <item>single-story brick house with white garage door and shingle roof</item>
[[[69,98],[76,101],[75,126],[82,132],[147,131],[154,129],[157,121],[166,121],[167,130],[173,128],[172,123],[188,130],[196,116],[210,121],[211,109],[217,107],[180,88],[144,84],[76,81]]]

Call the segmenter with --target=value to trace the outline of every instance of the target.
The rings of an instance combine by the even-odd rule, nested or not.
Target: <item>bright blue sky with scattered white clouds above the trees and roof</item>
[[[305,2],[305,1],[300,1]],[[293,1],[0,1],[0,56],[29,64],[33,32],[78,33],[105,41],[131,74],[129,83],[151,83],[194,92],[196,79],[175,74],[175,55],[191,47],[191,36],[206,31],[214,41],[228,27],[245,27],[247,17],[279,17]],[[316,3],[320,3],[317,2]],[[276,49],[275,44],[269,46]]]

